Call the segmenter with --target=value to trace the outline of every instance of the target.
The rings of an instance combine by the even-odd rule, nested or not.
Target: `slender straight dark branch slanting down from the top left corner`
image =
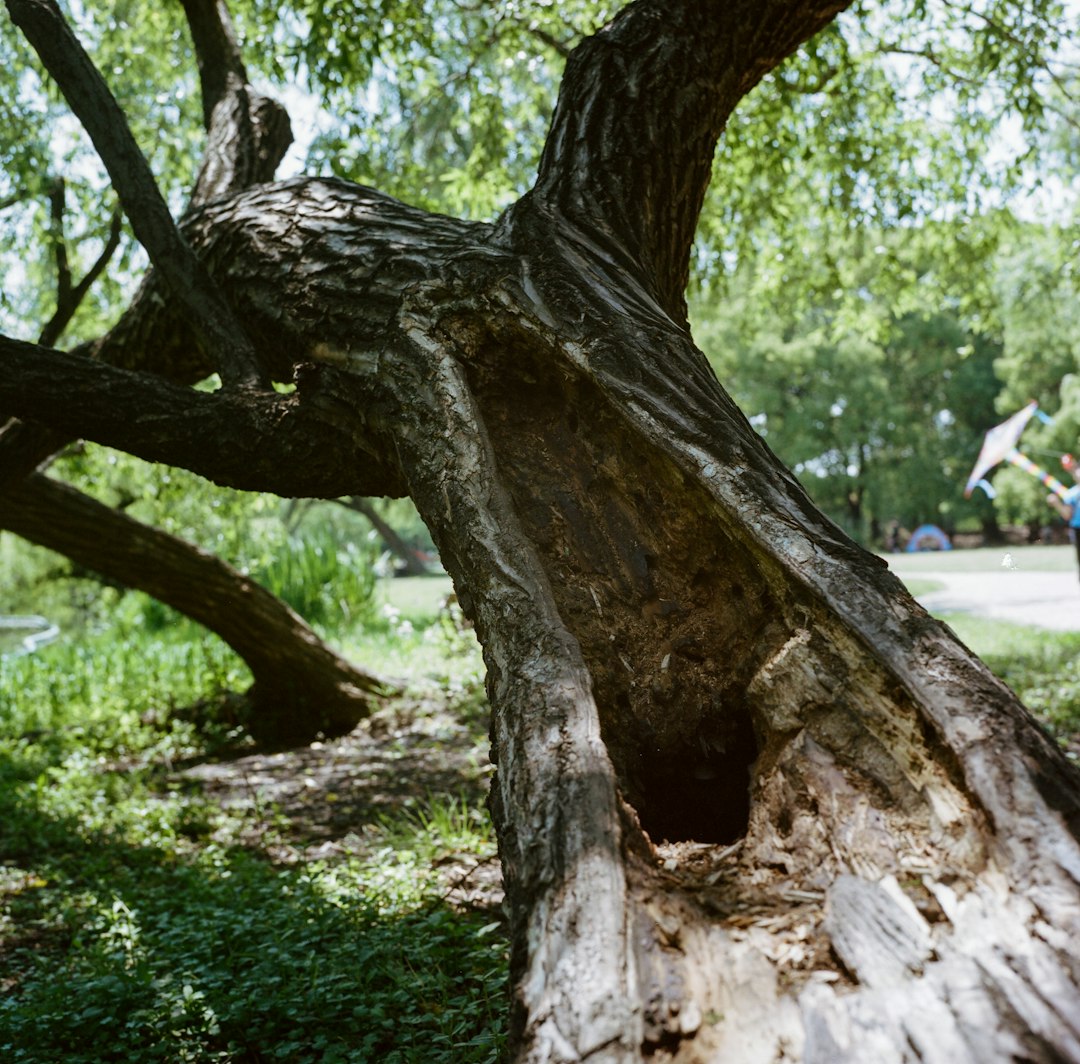
[[[68,105],[82,122],[112,179],[139,242],[172,293],[192,315],[229,385],[259,387],[266,378],[255,350],[210,275],[180,235],[127,126],[123,110],[71,32],[55,0],[5,0]]]

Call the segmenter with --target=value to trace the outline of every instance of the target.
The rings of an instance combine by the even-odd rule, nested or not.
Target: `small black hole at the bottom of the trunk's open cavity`
[[[717,749],[723,741],[723,750]],[[638,817],[653,843],[733,843],[750,822],[757,740],[750,715],[727,723],[723,740],[647,758]]]

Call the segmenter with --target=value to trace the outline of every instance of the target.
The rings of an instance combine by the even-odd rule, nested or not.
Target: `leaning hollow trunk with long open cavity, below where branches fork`
[[[518,1059],[1080,1060],[1075,768],[685,334],[514,229],[382,373],[488,662]]]

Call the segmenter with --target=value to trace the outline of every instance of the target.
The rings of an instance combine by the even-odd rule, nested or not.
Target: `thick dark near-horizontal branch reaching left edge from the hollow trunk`
[[[282,496],[402,494],[375,458],[359,382],[327,366],[293,395],[200,392],[148,374],[0,338],[0,402],[69,437]]]

